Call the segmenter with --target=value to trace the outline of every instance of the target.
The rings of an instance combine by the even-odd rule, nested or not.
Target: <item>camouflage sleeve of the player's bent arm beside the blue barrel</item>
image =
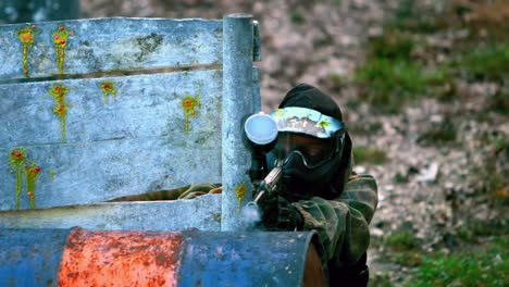
[[[356,263],[367,251],[376,192],[376,182],[371,175],[351,175],[335,200],[314,197],[294,203],[305,219],[305,229],[318,232],[326,261],[334,260],[342,267]]]

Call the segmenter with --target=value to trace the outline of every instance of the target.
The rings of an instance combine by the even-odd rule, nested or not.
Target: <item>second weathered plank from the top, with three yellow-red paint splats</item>
[[[221,129],[222,71],[0,85],[0,148],[184,134],[186,97],[200,97],[188,133]],[[114,86],[108,103],[101,83]],[[110,85],[111,85],[110,84]],[[65,140],[49,91],[69,88]]]

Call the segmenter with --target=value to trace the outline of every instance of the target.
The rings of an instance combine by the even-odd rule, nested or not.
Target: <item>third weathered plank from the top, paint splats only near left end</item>
[[[220,133],[203,133],[29,147],[28,158],[41,169],[36,207],[85,204],[194,183],[221,183],[218,142]],[[16,175],[9,172],[9,151],[0,149],[0,210],[14,209]],[[21,208],[29,208],[25,191],[21,199]]]

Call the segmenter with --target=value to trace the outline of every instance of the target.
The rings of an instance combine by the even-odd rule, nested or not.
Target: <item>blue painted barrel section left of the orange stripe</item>
[[[0,286],[55,286],[70,232],[0,228]]]

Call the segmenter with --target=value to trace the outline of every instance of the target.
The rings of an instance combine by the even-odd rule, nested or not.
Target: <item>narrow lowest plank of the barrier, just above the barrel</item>
[[[104,202],[52,209],[0,211],[1,228],[221,230],[221,195],[194,200]]]

